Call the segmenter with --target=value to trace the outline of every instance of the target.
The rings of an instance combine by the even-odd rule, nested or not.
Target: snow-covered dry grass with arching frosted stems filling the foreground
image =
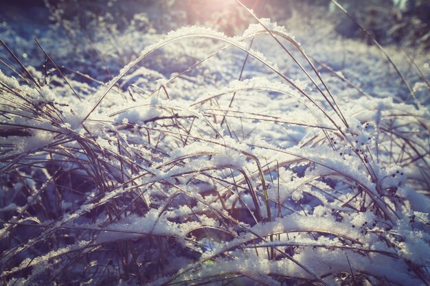
[[[4,285],[430,285],[426,96],[320,74],[258,21],[170,32],[107,84],[0,73]],[[189,69],[139,67],[183,45]]]

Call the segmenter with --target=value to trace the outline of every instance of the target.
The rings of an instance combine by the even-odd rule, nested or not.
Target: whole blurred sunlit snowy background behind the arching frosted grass
[[[23,64],[43,73],[55,73],[34,42],[37,38],[45,51],[64,68],[63,72],[79,71],[102,82],[111,80],[145,47],[171,30],[203,25],[228,36],[238,36],[249,23],[256,23],[236,0],[0,1],[0,38]],[[310,56],[342,71],[360,86],[375,84],[369,76],[357,74],[359,65],[365,67],[366,75],[382,76],[380,71],[385,68],[376,67],[376,59],[385,57],[380,51],[371,51],[372,39],[330,0],[242,0],[242,3],[258,17],[269,18],[286,27]],[[339,0],[339,3],[381,45],[390,49],[396,64],[405,62],[407,54],[422,61],[424,65],[420,67],[428,71],[429,0]],[[264,54],[277,55],[279,51],[270,51],[272,47],[264,46],[265,41],[264,38],[256,41],[262,45],[259,48]],[[212,40],[181,41],[174,47],[164,47],[163,56],[159,55],[162,51],[157,51],[146,64],[169,77],[221,47],[221,43]],[[243,60],[240,51],[234,54],[239,61]],[[288,75],[299,76],[289,74],[295,71],[288,69],[286,59],[282,61]],[[14,60],[5,49],[0,49],[0,63],[3,73],[14,74],[11,69]],[[405,71],[409,75],[411,67],[405,67]],[[234,72],[240,71],[231,71]],[[391,78],[391,75],[384,76]],[[390,92],[401,92],[398,86],[387,84],[391,85]]]

